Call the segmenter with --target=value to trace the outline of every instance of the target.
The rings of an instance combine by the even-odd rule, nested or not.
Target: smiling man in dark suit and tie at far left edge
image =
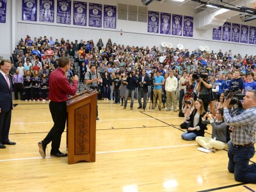
[[[0,148],[4,145],[15,145],[9,140],[9,131],[12,118],[12,84],[9,76],[12,68],[11,61],[2,60],[0,62]]]

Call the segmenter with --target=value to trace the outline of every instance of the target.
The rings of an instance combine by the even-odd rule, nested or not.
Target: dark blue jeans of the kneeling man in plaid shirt
[[[234,173],[236,181],[256,184],[256,165],[249,164],[254,156],[254,146],[234,147],[228,149],[228,171]]]

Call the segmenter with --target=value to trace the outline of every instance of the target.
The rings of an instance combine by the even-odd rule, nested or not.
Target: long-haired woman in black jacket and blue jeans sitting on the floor
[[[204,136],[204,131],[207,129],[206,124],[202,124],[202,117],[205,115],[204,104],[202,99],[195,101],[195,109],[191,113],[191,109],[187,109],[186,120],[188,130],[181,134],[182,140],[195,140],[197,136]]]

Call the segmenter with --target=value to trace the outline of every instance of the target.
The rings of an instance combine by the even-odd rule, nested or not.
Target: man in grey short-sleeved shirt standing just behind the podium
[[[97,90],[99,92],[99,84],[102,83],[102,78],[100,77],[100,74],[96,71],[95,65],[90,65],[90,71],[86,72],[85,76],[85,84],[86,84],[86,90],[87,89],[93,89]],[[97,105],[97,117],[96,120],[99,120],[98,117],[98,105]]]

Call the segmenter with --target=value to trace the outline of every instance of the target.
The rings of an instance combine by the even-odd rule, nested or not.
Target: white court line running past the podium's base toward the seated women
[[[130,152],[130,151],[137,151],[137,150],[150,150],[150,149],[158,149],[158,148],[175,148],[175,147],[187,147],[192,145],[198,145],[196,144],[189,144],[189,145],[174,145],[174,146],[164,146],[164,147],[149,147],[149,148],[134,148],[134,149],[127,149],[127,150],[113,150],[113,151],[106,151],[106,152],[97,152],[96,154],[111,154],[111,153],[119,153],[119,152]],[[56,157],[45,157],[45,159],[48,158],[56,158]],[[0,160],[0,162],[4,161],[22,161],[22,160],[29,160],[29,159],[42,159],[42,157],[29,157],[29,158],[22,158],[22,159],[3,159]]]

